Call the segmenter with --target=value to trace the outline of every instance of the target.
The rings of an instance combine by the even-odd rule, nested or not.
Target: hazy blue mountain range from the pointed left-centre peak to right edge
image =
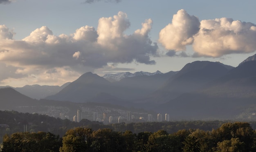
[[[91,72],[45,99],[110,103],[169,113],[172,119],[255,119],[256,55],[239,66],[195,61],[168,73]],[[1,90],[0,90],[1,91]]]

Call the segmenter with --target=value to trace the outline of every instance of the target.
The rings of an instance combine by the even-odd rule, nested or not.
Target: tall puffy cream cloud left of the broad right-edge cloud
[[[181,9],[173,15],[172,23],[160,31],[159,42],[168,50],[184,51],[186,45],[193,43],[193,35],[198,33],[199,27],[199,19]]]

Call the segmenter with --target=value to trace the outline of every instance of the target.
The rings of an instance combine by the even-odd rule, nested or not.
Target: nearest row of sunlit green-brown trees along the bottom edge
[[[217,129],[119,132],[73,128],[61,138],[52,133],[5,135],[2,152],[255,152],[256,132],[249,123],[224,123]]]

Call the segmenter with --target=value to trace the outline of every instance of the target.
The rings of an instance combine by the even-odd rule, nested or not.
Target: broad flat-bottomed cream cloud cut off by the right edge
[[[256,25],[231,18],[202,20],[193,49],[200,56],[221,57],[256,50]]]

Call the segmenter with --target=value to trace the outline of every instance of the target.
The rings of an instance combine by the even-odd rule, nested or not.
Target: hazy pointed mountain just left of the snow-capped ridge
[[[55,95],[48,96],[46,99],[59,101],[84,102],[110,89],[111,83],[91,72],[81,75],[74,82],[68,84]]]

